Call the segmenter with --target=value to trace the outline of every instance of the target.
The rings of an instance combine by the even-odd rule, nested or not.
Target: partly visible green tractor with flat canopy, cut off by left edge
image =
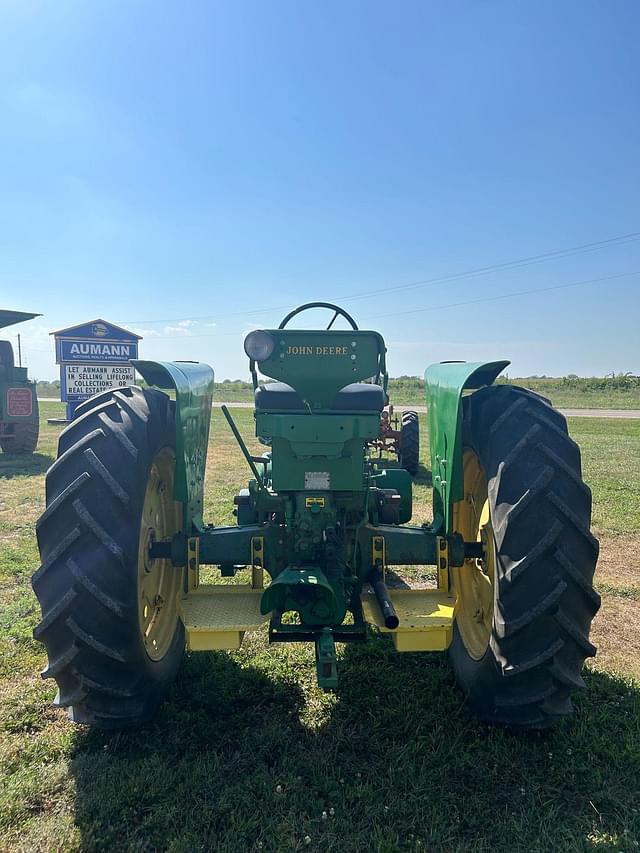
[[[0,309],[0,329],[39,317],[24,311]],[[0,448],[7,455],[33,453],[38,446],[40,422],[36,383],[27,368],[16,367],[11,341],[0,341]]]

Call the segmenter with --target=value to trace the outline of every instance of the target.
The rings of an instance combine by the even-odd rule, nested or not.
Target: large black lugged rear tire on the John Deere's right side
[[[565,418],[525,389],[491,386],[463,406],[463,443],[487,477],[496,579],[487,651],[474,660],[454,625],[451,661],[483,720],[548,728],[572,713],[570,694],[584,688],[582,666],[596,651],[598,541],[580,450]]]

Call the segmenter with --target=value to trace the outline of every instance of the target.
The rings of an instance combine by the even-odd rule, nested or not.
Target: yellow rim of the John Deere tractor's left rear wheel
[[[175,453],[163,447],[151,464],[140,521],[138,623],[152,660],[161,660],[171,645],[182,588],[182,572],[171,560],[149,559],[153,541],[170,539],[180,530],[180,504],[173,500],[175,467]]]

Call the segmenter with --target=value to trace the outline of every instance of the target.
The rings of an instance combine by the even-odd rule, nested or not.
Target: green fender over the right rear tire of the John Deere
[[[462,397],[492,385],[509,361],[441,362],[424,374],[433,476],[434,526],[453,533],[452,507],[464,497]]]

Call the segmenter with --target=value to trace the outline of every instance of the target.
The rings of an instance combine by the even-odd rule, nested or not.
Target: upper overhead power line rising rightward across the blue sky
[[[398,291],[404,290],[413,290],[413,289],[422,289],[426,287],[433,287],[436,284],[442,284],[448,281],[455,281],[459,279],[472,278],[480,275],[487,275],[491,272],[506,272],[512,269],[519,269],[521,267],[531,266],[533,264],[544,263],[546,261],[551,260],[559,260],[561,258],[574,257],[575,255],[586,254],[589,252],[596,252],[600,249],[613,248],[615,246],[623,246],[627,243],[633,243],[640,240],[640,231],[631,231],[628,234],[619,234],[617,237],[609,237],[606,240],[596,240],[591,243],[582,243],[579,246],[569,246],[564,249],[555,249],[551,252],[542,252],[537,255],[528,255],[523,258],[516,258],[511,261],[503,261],[498,264],[489,264],[483,267],[475,267],[469,270],[463,270],[461,272],[449,273],[447,275],[435,276],[433,278],[425,278],[419,279],[418,281],[407,282],[406,284],[393,285],[389,287],[378,288],[377,290],[368,290],[363,291],[361,293],[352,294],[350,296],[338,296],[333,297],[336,301],[340,302],[352,302],[359,299],[368,299],[371,296],[378,296],[385,293],[396,293]],[[253,310],[246,311],[233,311],[225,314],[207,314],[207,315],[196,315],[191,317],[177,317],[177,318],[167,318],[164,320],[122,320],[122,323],[128,323],[131,325],[135,325],[136,323],[140,324],[155,324],[155,323],[184,323],[190,320],[210,320],[210,319],[224,319],[227,317],[247,317],[253,316],[255,314],[266,314],[272,311],[285,311],[291,308],[291,304],[288,305],[277,305],[271,308],[256,308]],[[180,337],[180,336],[178,336]],[[192,336],[192,337],[195,337]]]

